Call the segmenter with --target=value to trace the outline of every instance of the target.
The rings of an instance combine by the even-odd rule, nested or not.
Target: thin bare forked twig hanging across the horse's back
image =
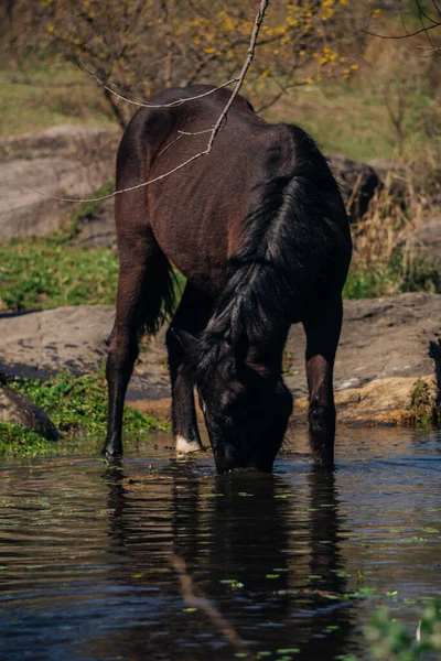
[[[237,97],[237,95],[239,94],[240,87],[243,86],[243,83],[245,80],[245,76],[247,75],[247,72],[250,67],[250,64],[252,62],[252,57],[255,55],[255,48],[256,48],[256,42],[257,42],[257,37],[259,34],[259,30],[260,30],[260,25],[262,23],[263,20],[263,15],[265,12],[267,10],[269,0],[261,0],[260,1],[260,7],[259,7],[259,11],[257,12],[256,15],[256,20],[255,20],[255,24],[252,28],[252,33],[251,33],[251,39],[249,41],[249,46],[248,46],[248,51],[247,51],[247,58],[245,61],[245,64],[241,68],[240,75],[238,78],[236,78],[237,83],[236,83],[236,87],[234,88],[232,96],[229,97],[227,104],[225,105],[223,111],[220,112],[216,123],[214,124],[213,129],[211,129],[211,137],[207,143],[206,149],[204,149],[203,151],[198,152],[197,154],[194,154],[194,156],[191,156],[190,159],[187,159],[186,161],[184,161],[183,163],[181,163],[180,165],[176,165],[176,167],[173,167],[172,170],[169,170],[169,172],[165,172],[164,174],[160,174],[159,176],[155,176],[152,180],[148,180],[147,182],[142,182],[141,184],[137,184],[136,186],[130,186],[129,188],[121,188],[120,191],[114,191],[114,193],[110,193],[109,195],[104,195],[103,197],[90,197],[87,199],[78,199],[78,198],[74,198],[74,197],[56,197],[54,195],[49,195],[47,193],[43,193],[42,191],[36,191],[35,188],[32,188],[31,186],[29,186],[29,188],[31,191],[33,191],[34,193],[39,193],[40,195],[43,195],[44,197],[50,197],[51,199],[57,199],[58,202],[104,202],[105,199],[110,199],[111,197],[115,197],[116,195],[120,195],[121,193],[130,193],[131,191],[138,191],[139,188],[143,188],[144,186],[149,186],[150,184],[154,184],[155,182],[159,182],[168,176],[170,176],[171,174],[174,174],[175,172],[178,172],[179,170],[182,170],[183,167],[185,167],[186,165],[189,165],[190,163],[192,163],[193,161],[196,161],[197,159],[200,159],[201,156],[205,156],[207,154],[211,153],[212,149],[213,149],[213,144],[214,141],[216,140],[216,137],[218,134],[218,132],[222,129],[222,126],[228,115],[228,110],[230,109],[235,98]],[[93,74],[95,75],[95,74]],[[96,76],[95,76],[96,77]],[[223,86],[220,87],[225,87],[226,85],[229,85],[230,82],[228,83],[224,83]],[[211,89],[207,93],[204,93],[203,95],[200,95],[197,97],[193,97],[187,98],[187,99],[178,99],[176,101],[173,101],[172,104],[169,104],[166,106],[157,106],[160,108],[166,108],[166,107],[171,107],[171,106],[176,106],[176,105],[181,105],[182,102],[186,102],[193,99],[197,99],[201,98],[202,96],[207,96],[208,94],[213,94],[213,91],[216,91],[216,89]],[[115,93],[114,93],[115,94]],[[122,98],[122,97],[121,97]],[[133,101],[132,101],[133,102]],[[155,107],[155,106],[149,106],[149,107]]]

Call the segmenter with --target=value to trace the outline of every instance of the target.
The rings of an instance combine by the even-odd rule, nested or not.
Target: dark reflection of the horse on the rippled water
[[[149,488],[148,479],[128,486],[110,470],[106,480],[111,579],[125,586],[121,606],[132,616],[111,637],[89,640],[87,654],[229,661],[238,651],[294,648],[295,659],[319,661],[347,653],[351,604],[338,598],[346,585],[332,475],[311,470],[301,508],[278,476],[213,484],[180,470]],[[232,647],[204,609],[185,611],[175,556],[244,647]]]

